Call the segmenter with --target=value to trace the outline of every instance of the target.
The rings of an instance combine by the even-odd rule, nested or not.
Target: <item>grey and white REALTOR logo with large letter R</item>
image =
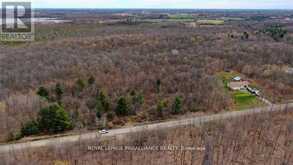
[[[2,2],[0,40],[33,41],[34,24],[31,2]]]

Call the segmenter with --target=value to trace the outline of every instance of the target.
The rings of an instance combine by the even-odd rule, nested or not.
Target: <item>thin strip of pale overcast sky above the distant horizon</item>
[[[35,8],[293,9],[293,0],[32,0],[32,1],[34,2]]]

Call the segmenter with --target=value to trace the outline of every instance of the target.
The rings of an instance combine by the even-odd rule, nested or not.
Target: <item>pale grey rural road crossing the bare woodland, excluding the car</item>
[[[92,133],[85,133],[81,135],[70,135],[65,137],[50,138],[50,139],[44,139],[44,140],[38,140],[38,141],[32,141],[32,142],[4,144],[4,145],[0,145],[0,153],[7,153],[11,151],[19,151],[19,150],[45,147],[45,146],[58,146],[61,144],[94,140],[98,137],[99,138],[119,137],[119,136],[126,135],[128,133],[142,132],[146,130],[151,131],[151,130],[158,130],[158,129],[176,128],[179,126],[187,126],[187,125],[201,125],[203,123],[207,123],[211,121],[225,120],[225,119],[253,115],[253,114],[258,114],[263,112],[283,111],[288,108],[293,108],[293,103],[282,104],[282,105],[272,105],[268,107],[248,109],[245,111],[235,111],[235,112],[227,112],[227,113],[215,114],[215,115],[209,115],[209,116],[180,119],[175,121],[166,121],[166,122],[155,123],[155,124],[134,126],[130,128],[113,129],[113,130],[110,130],[108,134],[104,134],[104,135],[99,135],[97,132],[92,132]]]

